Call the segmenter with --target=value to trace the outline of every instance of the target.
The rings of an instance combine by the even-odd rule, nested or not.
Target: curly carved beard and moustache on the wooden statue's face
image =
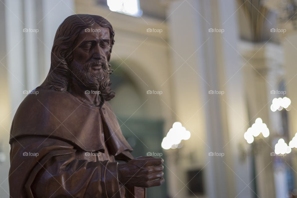
[[[101,65],[102,70],[99,73],[94,73],[92,66],[97,65]],[[105,60],[91,61],[84,65],[72,61],[70,69],[73,72],[71,75],[90,90],[103,92],[109,85],[109,66]]]

